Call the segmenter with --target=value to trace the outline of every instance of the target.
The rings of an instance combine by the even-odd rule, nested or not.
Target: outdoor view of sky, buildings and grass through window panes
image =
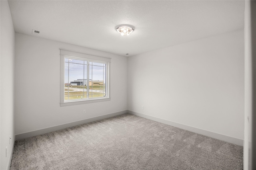
[[[72,57],[64,61],[64,102],[108,97],[108,63]]]

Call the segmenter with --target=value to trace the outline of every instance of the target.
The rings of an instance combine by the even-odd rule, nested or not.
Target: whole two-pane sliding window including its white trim
[[[110,100],[110,59],[60,49],[60,106]]]

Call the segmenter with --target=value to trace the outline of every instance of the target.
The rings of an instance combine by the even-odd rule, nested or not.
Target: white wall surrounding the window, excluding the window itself
[[[60,48],[112,58],[110,101],[60,107]],[[127,110],[126,57],[20,33],[15,49],[16,134]]]

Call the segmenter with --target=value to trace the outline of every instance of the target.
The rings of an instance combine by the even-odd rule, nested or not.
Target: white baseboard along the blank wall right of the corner
[[[130,110],[128,110],[128,113],[136,115],[136,116],[144,117],[146,119],[150,119],[150,120],[153,120],[153,121],[158,121],[158,122],[164,123],[166,125],[171,125],[171,126],[174,126],[174,127],[178,127],[180,129],[185,129],[185,130],[188,130],[188,131],[191,131],[191,132],[194,132],[194,133],[198,133],[198,134],[201,134],[201,135],[205,135],[205,136],[208,136],[208,137],[219,139],[221,141],[226,141],[226,142],[233,143],[233,144],[240,145],[240,146],[243,146],[243,144],[244,144],[244,140],[242,140],[242,139],[237,139],[237,138],[222,135],[222,134],[219,134],[219,133],[206,131],[204,129],[199,129],[199,128],[191,127],[191,126],[188,126],[188,125],[183,125],[183,124],[180,124],[180,123],[168,121],[168,120],[161,119],[161,118],[158,118],[158,117],[153,117],[153,116],[150,116],[150,115],[145,115],[145,114],[142,114],[142,113],[137,113],[137,112],[130,111]]]

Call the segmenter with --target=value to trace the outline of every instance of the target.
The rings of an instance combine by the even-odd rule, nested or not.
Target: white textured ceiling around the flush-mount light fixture
[[[244,28],[244,1],[9,0],[14,29],[123,56]],[[115,27],[133,25],[129,36]],[[129,53],[130,55],[125,55]]]

